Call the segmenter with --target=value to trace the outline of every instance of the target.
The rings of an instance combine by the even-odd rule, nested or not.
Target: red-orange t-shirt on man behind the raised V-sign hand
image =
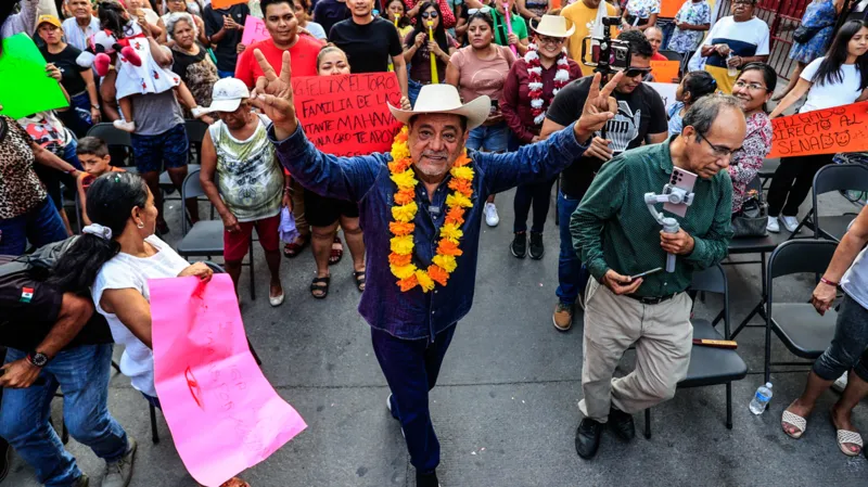
[[[263,51],[263,55],[275,68],[278,76],[280,76],[280,68],[283,65],[283,50],[278,49],[273,40],[260,40],[247,46],[244,52],[238,56],[238,64],[235,65],[235,78],[244,81],[247,88],[253,88],[259,76],[263,76],[263,69],[253,55],[254,49]],[[292,75],[317,76],[317,56],[320,49],[322,49],[322,44],[319,41],[310,36],[299,35],[298,41],[290,48]]]

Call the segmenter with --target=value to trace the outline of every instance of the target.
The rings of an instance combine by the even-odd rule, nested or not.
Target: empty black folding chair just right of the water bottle
[[[809,303],[776,303],[774,281],[795,273],[821,274],[826,271],[838,246],[828,240],[791,240],[781,244],[768,261],[768,306],[766,312],[765,381],[771,377],[773,366],[809,366],[809,361],[771,361],[771,332],[796,357],[816,359],[826,350],[834,336],[838,319],[830,309],[820,316]],[[775,370],[774,372],[795,372]]]

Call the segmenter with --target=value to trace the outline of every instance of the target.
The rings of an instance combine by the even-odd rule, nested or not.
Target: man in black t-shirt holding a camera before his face
[[[617,17],[615,17],[617,21]],[[617,154],[642,143],[660,143],[666,140],[668,126],[663,100],[642,79],[651,73],[651,44],[639,30],[621,34],[620,41],[629,44],[629,67],[626,76],[618,82],[612,95],[617,100],[617,115],[605,126],[605,138],[593,138],[590,148],[580,158],[561,172],[561,190],[558,194],[558,216],[562,222],[578,206],[600,166]],[[611,43],[611,42],[605,42]],[[626,47],[625,47],[626,49]],[[603,55],[603,59],[607,56]],[[627,66],[623,66],[627,67]],[[551,102],[546,120],[542,123],[541,138],[558,131],[578,119],[585,99],[590,89],[590,77],[567,85],[558,92]],[[659,190],[659,188],[658,188]],[[573,308],[576,299],[582,306],[582,291],[587,282],[587,271],[573,249],[570,229],[561,225],[561,251],[558,265],[558,304],[552,322],[560,331],[567,331],[573,324]]]

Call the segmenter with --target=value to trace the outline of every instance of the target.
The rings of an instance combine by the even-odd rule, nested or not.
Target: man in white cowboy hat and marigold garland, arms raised
[[[298,124],[289,53],[280,77],[255,55],[265,76],[252,102],[273,121],[269,137],[280,162],[306,189],[359,205],[368,252],[359,312],[371,326],[392,390],[387,406],[400,421],[417,485],[437,486],[439,443],[429,390],[455,324],[473,302],[483,202],[520,182],[550,178],[582,154],[592,132],[613,117],[609,95],[620,77],[602,90],[598,79],[578,121],[508,154],[465,153],[469,131],[488,117],[487,97],[461,104],[452,86],[427,85],[414,110],[390,105],[407,125],[392,154],[336,157],[318,151]]]

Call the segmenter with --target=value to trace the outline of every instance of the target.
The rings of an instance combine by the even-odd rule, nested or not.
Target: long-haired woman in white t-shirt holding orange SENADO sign
[[[800,113],[848,105],[868,99],[868,24],[851,21],[841,27],[825,57],[802,71],[799,82],[769,115],[779,116],[805,93]],[[814,175],[832,163],[834,154],[786,157],[775,171],[768,189],[768,231],[779,232],[778,216],[792,232],[799,227],[799,205],[805,201]]]

